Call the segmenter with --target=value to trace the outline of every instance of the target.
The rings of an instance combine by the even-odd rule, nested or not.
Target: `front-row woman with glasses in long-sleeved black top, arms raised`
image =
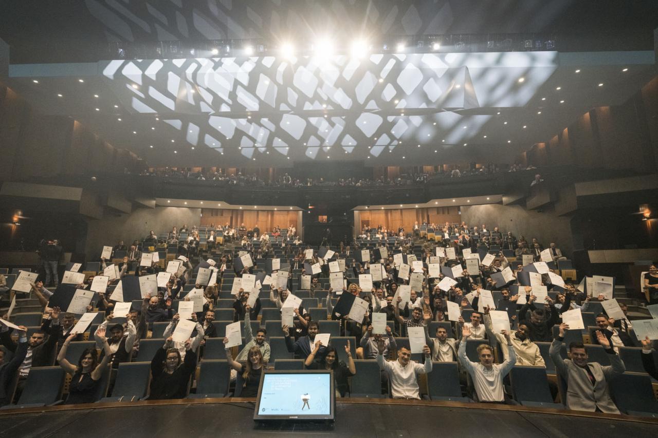
[[[174,339],[168,337],[161,349],[151,360],[151,395],[149,400],[183,399],[188,392],[190,376],[197,366],[197,354],[185,342],[185,362],[180,360],[180,351],[174,348]]]

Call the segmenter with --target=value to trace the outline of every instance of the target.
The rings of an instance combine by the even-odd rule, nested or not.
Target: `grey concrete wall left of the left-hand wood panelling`
[[[178,229],[184,224],[198,226],[200,220],[201,208],[180,207],[137,208],[130,214],[106,214],[99,220],[88,218],[87,260],[100,256],[103,245],[114,246],[119,240],[129,245],[149,235],[151,230],[161,233],[170,231],[173,226]]]

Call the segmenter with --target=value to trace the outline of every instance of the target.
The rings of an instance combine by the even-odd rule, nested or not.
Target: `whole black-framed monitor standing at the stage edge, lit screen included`
[[[334,421],[334,391],[332,370],[265,371],[253,419]]]

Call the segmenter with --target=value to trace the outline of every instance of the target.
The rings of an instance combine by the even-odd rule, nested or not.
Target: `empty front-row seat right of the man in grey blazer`
[[[621,412],[658,418],[658,402],[647,374],[624,373],[610,382],[611,395]]]

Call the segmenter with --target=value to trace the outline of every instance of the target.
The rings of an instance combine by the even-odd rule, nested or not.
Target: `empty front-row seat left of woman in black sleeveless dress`
[[[32,367],[18,402],[8,404],[0,409],[38,408],[59,404],[62,397],[64,375],[64,370],[60,366]]]

